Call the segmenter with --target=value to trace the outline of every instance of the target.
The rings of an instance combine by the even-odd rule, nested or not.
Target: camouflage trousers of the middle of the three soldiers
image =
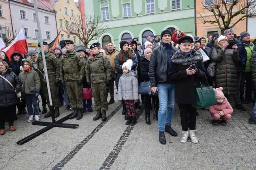
[[[72,108],[83,109],[83,86],[77,85],[78,81],[66,81],[68,96]]]

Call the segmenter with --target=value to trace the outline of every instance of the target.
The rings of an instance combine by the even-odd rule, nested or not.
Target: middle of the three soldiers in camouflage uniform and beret
[[[66,40],[66,52],[60,61],[60,81],[66,81],[68,96],[74,109],[70,119],[83,118],[83,77],[85,75],[84,59],[81,54],[74,50],[74,42]]]

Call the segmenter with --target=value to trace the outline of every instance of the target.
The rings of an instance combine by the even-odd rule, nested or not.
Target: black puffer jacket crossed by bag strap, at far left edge
[[[8,79],[15,88],[13,89],[6,80],[0,78],[0,107],[16,105],[18,103],[16,92],[21,91],[21,80],[16,76],[11,68],[7,68],[4,75],[1,73],[0,75]]]

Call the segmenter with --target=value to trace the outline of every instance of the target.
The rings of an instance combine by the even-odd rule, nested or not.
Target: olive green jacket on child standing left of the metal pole
[[[22,83],[21,91],[23,94],[35,94],[35,91],[40,90],[41,88],[40,78],[35,70],[26,72],[26,74],[21,72],[19,74],[19,79]]]

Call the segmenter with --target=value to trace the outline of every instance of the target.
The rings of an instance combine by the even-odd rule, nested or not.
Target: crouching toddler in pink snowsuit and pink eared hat
[[[216,105],[210,107],[210,113],[213,117],[213,124],[218,125],[218,120],[222,118],[221,124],[225,126],[227,124],[227,120],[229,120],[231,117],[233,109],[227,98],[224,96],[222,87],[213,90],[217,102]]]

